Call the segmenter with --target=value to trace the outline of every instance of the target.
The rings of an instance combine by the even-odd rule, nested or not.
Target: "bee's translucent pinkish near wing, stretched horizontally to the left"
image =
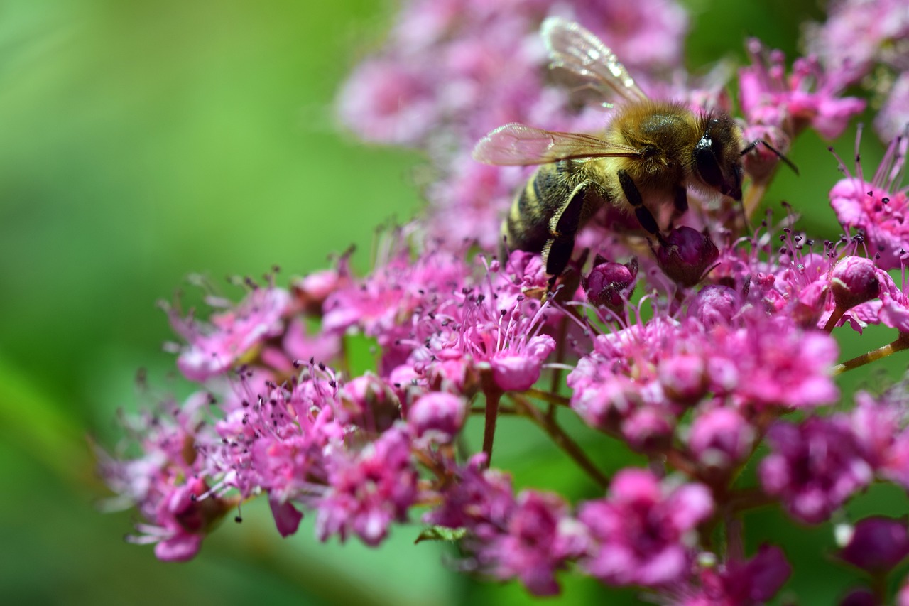
[[[500,166],[528,166],[588,157],[638,157],[634,147],[598,136],[558,133],[511,122],[484,136],[474,147],[474,160]]]

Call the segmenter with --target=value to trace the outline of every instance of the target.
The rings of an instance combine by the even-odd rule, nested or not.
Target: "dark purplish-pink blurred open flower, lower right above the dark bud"
[[[778,421],[767,440],[772,450],[759,469],[764,490],[798,520],[827,520],[872,480],[874,472],[847,419]]]

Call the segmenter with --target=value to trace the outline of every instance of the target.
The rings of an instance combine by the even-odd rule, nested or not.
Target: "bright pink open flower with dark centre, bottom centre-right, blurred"
[[[584,569],[614,585],[679,581],[691,561],[695,527],[713,508],[701,484],[668,489],[649,471],[622,470],[604,500],[581,506],[578,518],[594,540]]]

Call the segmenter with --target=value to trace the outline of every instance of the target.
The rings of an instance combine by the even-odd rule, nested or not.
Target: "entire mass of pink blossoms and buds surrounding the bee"
[[[556,281],[538,253],[491,254],[528,172],[477,165],[469,151],[512,120],[604,126],[602,108],[549,86],[536,32],[547,15],[583,21],[649,94],[728,109],[723,86],[685,84],[687,16],[669,0],[405,5],[387,45],[345,85],[339,112],[367,140],[425,149],[439,176],[428,216],[386,234],[365,276],[344,255],[287,287],[246,280],[238,302],[209,296],[207,318],[165,305],[182,339],[177,368],[197,389],[130,419],[137,448],[99,454],[116,501],[144,519],[131,540],[155,543],[162,560],[190,559],[219,520],[262,495],[282,536],[307,511],[319,540],[370,546],[395,525],[420,524],[421,540],[460,541],[463,570],[536,595],[574,573],[661,603],[772,600],[792,565],[779,546],[745,553],[744,511],[774,504],[819,524],[846,520],[844,505],[873,481],[909,490],[904,386],[841,403],[836,381],[909,348],[909,294],[888,273],[909,250],[906,137],[870,180],[856,158],[824,184],[839,239],[795,230],[797,205],[747,227],[779,152],[804,130],[838,136],[865,106],[844,86],[874,62],[902,65],[881,55],[894,34],[869,34],[854,64],[816,42],[838,39],[857,4],[834,5],[813,30],[820,58],[796,59],[788,75],[780,53],[747,43],[744,144],[768,145],[744,158],[744,210],[693,191],[685,225],[658,237],[629,217],[610,227],[594,217]],[[845,323],[893,328],[894,341],[837,364],[831,333]],[[369,348],[371,369],[352,370],[357,347]],[[495,467],[505,412],[551,437],[600,494],[514,487]],[[565,417],[649,464],[610,477]],[[470,419],[482,445],[469,443]],[[745,468],[757,470],[753,485],[743,485]],[[838,559],[871,577],[844,600],[882,603],[885,577],[909,553],[905,520],[844,526]]]

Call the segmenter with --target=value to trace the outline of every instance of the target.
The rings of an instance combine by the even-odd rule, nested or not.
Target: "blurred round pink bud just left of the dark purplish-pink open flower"
[[[691,425],[688,448],[705,467],[729,470],[748,455],[754,428],[734,409],[712,409]]]

